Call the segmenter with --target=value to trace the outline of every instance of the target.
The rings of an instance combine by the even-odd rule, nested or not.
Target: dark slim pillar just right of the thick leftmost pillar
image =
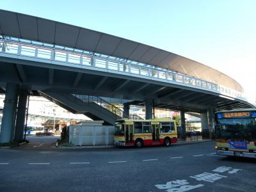
[[[16,118],[16,125],[15,125],[15,134],[14,134],[15,141],[23,140],[27,99],[28,99],[28,90],[24,90],[24,89],[20,90],[19,103],[18,103],[18,109],[17,109],[17,118]]]

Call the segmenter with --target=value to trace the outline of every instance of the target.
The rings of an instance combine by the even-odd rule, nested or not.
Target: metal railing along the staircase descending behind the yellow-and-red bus
[[[76,97],[79,100],[82,100],[83,102],[94,102],[95,104],[101,106],[102,108],[107,109],[111,113],[114,113],[117,116],[120,116],[121,118],[124,118],[124,116],[128,116],[127,114],[124,113],[122,109],[117,108],[113,104],[109,103],[108,101],[100,98],[100,97],[95,97],[92,95],[76,95],[72,94],[74,97]],[[138,115],[129,115],[129,119],[143,119]]]

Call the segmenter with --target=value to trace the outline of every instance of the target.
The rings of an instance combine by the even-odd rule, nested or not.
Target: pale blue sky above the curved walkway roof
[[[255,0],[0,0],[0,9],[120,36],[204,63],[256,100]]]

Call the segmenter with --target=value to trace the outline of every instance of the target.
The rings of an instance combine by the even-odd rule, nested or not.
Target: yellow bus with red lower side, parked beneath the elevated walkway
[[[117,146],[165,145],[177,142],[177,127],[169,118],[150,120],[117,120],[114,144]]]

